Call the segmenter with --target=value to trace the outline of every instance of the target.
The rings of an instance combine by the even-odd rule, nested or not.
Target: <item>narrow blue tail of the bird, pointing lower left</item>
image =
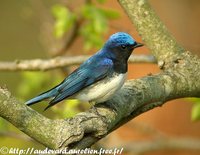
[[[52,97],[55,97],[57,95],[58,91],[54,88],[54,89],[51,89],[47,92],[44,92],[30,100],[28,100],[25,104],[30,106],[30,105],[33,105],[35,103],[38,103],[42,100],[45,100],[45,99],[49,99],[49,98],[52,98]]]

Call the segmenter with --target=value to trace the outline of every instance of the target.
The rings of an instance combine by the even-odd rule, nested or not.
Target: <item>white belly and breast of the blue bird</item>
[[[105,78],[94,85],[83,89],[74,97],[82,101],[104,102],[110,99],[119,90],[126,80],[126,74],[115,74],[111,78]]]

